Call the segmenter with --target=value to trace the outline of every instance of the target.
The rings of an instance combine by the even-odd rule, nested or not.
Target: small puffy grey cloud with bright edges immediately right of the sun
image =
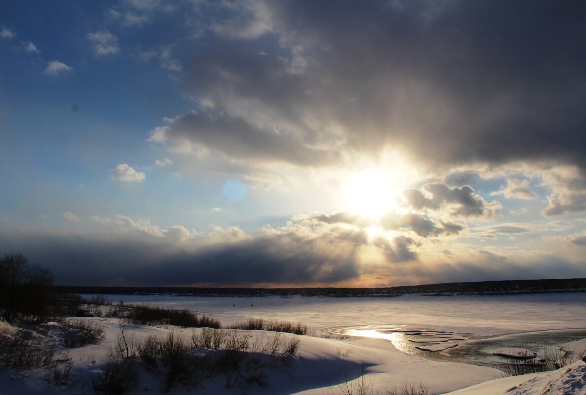
[[[440,210],[442,207],[451,207],[452,216],[492,218],[498,215],[502,207],[499,202],[486,202],[482,196],[474,192],[469,185],[449,187],[444,183],[435,182],[425,184],[422,189],[405,189],[403,195],[415,210]]]

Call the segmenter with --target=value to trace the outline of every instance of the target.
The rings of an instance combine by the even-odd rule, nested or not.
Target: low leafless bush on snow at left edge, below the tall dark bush
[[[0,369],[51,366],[54,356],[54,344],[43,344],[28,333],[0,334]]]

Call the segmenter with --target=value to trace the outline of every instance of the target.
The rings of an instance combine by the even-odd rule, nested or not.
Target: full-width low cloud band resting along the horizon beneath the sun
[[[159,227],[148,219],[91,216],[98,230],[74,237],[58,230],[1,230],[0,249],[23,251],[42,262],[57,284],[364,284],[376,277],[384,286],[586,275],[582,254],[572,259],[560,254],[567,251],[565,237],[546,240],[558,243],[557,252],[553,244],[547,251],[467,244],[448,250],[437,240],[373,237],[357,227],[310,224],[298,217],[254,234],[239,227],[214,227],[205,234],[180,225]],[[575,237],[578,245],[582,236]]]

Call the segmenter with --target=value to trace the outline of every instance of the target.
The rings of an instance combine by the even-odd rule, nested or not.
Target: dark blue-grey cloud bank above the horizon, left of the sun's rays
[[[93,285],[350,280],[359,275],[357,254],[367,241],[366,234],[360,231],[334,229],[315,234],[292,230],[187,252],[144,234],[71,237],[31,231],[0,236],[0,252],[22,252],[30,261],[50,268],[58,284]]]

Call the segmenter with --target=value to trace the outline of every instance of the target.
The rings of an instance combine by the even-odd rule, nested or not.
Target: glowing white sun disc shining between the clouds
[[[401,189],[390,172],[369,170],[355,173],[343,187],[348,210],[376,218],[397,207]]]

